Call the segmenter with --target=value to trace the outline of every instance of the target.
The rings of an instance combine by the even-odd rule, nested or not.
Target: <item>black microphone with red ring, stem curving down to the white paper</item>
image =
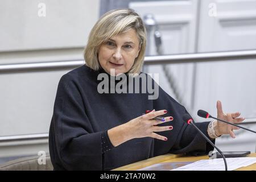
[[[194,126],[195,129],[207,140],[207,142],[209,142],[211,146],[213,146],[214,148],[216,148],[216,150],[217,150],[218,152],[220,152],[220,154],[221,154],[221,156],[222,156],[222,158],[223,158],[223,160],[224,160],[224,163],[225,163],[225,171],[228,171],[228,166],[227,166],[227,164],[226,164],[226,158],[225,158],[225,156],[223,155],[223,153],[221,152],[221,150],[218,149],[218,147],[216,147],[216,145],[214,145],[214,144],[210,141],[210,139],[209,139],[207,136],[205,136],[205,134],[195,125],[195,121],[193,121],[193,119],[191,118],[191,116],[190,116],[189,114],[184,114],[182,118],[183,118],[183,121],[184,121],[185,123],[188,123],[188,125]]]

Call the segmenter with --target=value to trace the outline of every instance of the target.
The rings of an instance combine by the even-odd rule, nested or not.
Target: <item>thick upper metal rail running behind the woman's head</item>
[[[256,50],[189,53],[182,55],[146,56],[145,65],[154,64],[177,64],[177,63],[203,63],[210,61],[227,61],[240,59],[256,59]],[[51,61],[43,63],[22,63],[0,65],[0,73],[27,72],[27,71],[50,71],[56,69],[76,68],[85,63],[84,60]]]

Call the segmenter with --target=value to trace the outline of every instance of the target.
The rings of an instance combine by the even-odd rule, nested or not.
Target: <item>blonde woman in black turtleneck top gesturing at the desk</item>
[[[149,99],[148,86],[158,88],[151,77],[146,77],[146,86],[143,81],[134,84],[135,78],[146,75],[141,72],[145,47],[146,29],[131,9],[109,11],[94,25],[85,48],[86,64],[62,76],[57,88],[49,130],[55,170],[109,170],[168,152],[203,155],[213,149],[182,121],[186,109],[162,88],[157,98]],[[105,76],[108,84],[102,86]],[[120,82],[124,90],[135,86],[133,92],[109,92]],[[243,121],[240,113],[224,114],[220,101],[217,110],[218,118]],[[164,121],[154,119],[158,116]],[[197,126],[213,142],[222,134],[234,138],[237,129],[217,121]]]

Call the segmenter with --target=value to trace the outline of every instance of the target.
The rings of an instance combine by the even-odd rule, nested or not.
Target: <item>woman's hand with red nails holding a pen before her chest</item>
[[[150,113],[134,118],[131,121],[125,123],[126,128],[128,129],[128,135],[130,138],[143,138],[143,137],[152,137],[160,140],[167,140],[166,137],[156,134],[155,132],[159,131],[168,131],[172,130],[172,126],[158,126],[161,123],[172,121],[173,118],[165,117],[165,121],[155,120],[155,117],[166,114],[167,110],[152,110]]]

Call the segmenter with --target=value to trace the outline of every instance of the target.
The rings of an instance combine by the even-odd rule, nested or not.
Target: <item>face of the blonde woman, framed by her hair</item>
[[[116,76],[131,69],[140,49],[136,31],[131,29],[103,43],[98,51],[98,61],[107,73],[114,69],[115,75],[111,75]]]

